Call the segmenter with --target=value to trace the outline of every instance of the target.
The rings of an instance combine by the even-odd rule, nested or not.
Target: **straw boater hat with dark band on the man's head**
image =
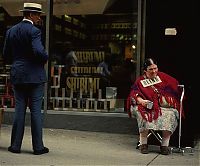
[[[38,3],[24,3],[24,8],[20,12],[38,12],[44,13],[42,11],[42,5]]]

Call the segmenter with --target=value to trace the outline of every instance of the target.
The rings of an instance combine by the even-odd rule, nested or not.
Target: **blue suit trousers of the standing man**
[[[27,106],[31,113],[31,134],[33,150],[44,148],[42,126],[43,116],[41,112],[44,83],[40,84],[17,84],[13,86],[15,96],[15,114],[11,133],[11,147],[20,150],[25,129],[25,115]]]

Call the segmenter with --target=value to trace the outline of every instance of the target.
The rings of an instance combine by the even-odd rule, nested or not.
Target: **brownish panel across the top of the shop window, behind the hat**
[[[109,2],[110,1],[110,2]],[[109,2],[109,3],[108,3]],[[107,5],[113,0],[54,0],[53,15],[103,14]],[[11,15],[20,16],[24,0],[0,0],[0,5]],[[47,0],[37,0],[42,10],[47,13]]]

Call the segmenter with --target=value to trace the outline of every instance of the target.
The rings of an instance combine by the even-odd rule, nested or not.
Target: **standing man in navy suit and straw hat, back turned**
[[[42,6],[24,3],[24,19],[11,27],[5,36],[3,58],[11,64],[10,80],[15,97],[15,115],[8,151],[20,153],[24,136],[26,108],[31,112],[31,134],[33,154],[48,153],[43,144],[42,101],[44,84],[47,81],[44,68],[48,55],[41,41],[41,30],[36,25],[41,22]]]

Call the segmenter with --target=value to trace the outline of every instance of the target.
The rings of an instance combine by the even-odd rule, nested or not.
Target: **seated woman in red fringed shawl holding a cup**
[[[148,153],[149,129],[162,131],[161,154],[168,155],[170,137],[178,125],[180,95],[179,82],[159,72],[155,60],[144,62],[144,74],[136,79],[127,99],[130,117],[137,119],[140,133],[140,150]]]

